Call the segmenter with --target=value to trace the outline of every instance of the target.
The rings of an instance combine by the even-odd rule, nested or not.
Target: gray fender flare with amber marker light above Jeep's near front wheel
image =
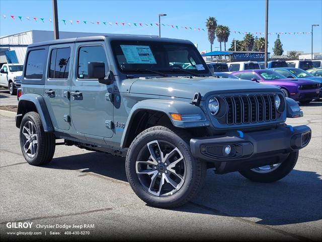
[[[131,109],[128,115],[128,119],[124,128],[124,132],[121,139],[121,147],[124,148],[126,140],[128,138],[131,124],[137,112],[142,110],[153,110],[165,113],[171,120],[173,126],[178,128],[194,128],[209,126],[210,122],[206,118],[203,110],[189,102],[164,100],[164,99],[145,99],[137,102]],[[171,118],[171,113],[180,114],[200,114],[201,120],[197,121],[177,121]]]

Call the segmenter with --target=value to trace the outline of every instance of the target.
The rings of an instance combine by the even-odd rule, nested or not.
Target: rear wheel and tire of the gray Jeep
[[[30,131],[30,124],[32,125],[32,131]],[[28,136],[29,132],[24,129],[25,126],[29,128],[28,130],[30,131],[30,133],[33,133],[33,138],[29,140],[33,140],[32,142],[34,142],[34,145],[30,144],[32,142],[29,141],[28,143],[27,141],[28,139],[26,138],[26,135]],[[34,136],[34,134],[36,134],[36,136]],[[37,143],[35,142],[35,140],[37,140]],[[20,125],[20,147],[25,159],[29,164],[44,165],[49,163],[55,153],[55,142],[55,136],[53,133],[44,132],[39,114],[37,112],[28,112],[24,115]],[[27,151],[24,148],[25,144]],[[28,148],[27,146],[32,146],[34,148]]]

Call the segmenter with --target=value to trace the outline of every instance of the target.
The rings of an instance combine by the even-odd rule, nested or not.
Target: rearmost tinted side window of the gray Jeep
[[[28,79],[42,79],[44,65],[46,63],[46,50],[31,50],[28,54],[26,74]]]

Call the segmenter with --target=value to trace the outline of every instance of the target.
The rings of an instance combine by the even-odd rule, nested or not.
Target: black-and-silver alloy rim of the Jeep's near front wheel
[[[186,161],[173,144],[154,140],[138,153],[135,170],[141,185],[150,194],[171,196],[184,184]]]

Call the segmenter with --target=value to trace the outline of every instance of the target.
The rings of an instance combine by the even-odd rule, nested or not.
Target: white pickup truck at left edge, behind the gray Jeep
[[[17,78],[22,76],[22,64],[4,64],[0,69],[0,87],[9,88],[11,95],[16,95],[21,83]]]

